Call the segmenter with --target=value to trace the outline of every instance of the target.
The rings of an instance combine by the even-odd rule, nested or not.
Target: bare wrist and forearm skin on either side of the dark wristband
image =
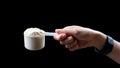
[[[95,47],[101,51],[105,46],[106,39],[107,39],[106,34],[98,32],[98,34],[96,35],[97,41]],[[114,45],[112,51],[108,53],[106,56],[108,56],[109,58],[120,64],[120,43],[114,39],[113,39],[113,43]]]

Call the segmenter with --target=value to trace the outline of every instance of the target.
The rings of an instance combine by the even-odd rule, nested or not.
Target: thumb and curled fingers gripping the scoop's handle
[[[70,51],[80,49],[81,46],[78,43],[78,40],[74,37],[74,34],[77,34],[76,31],[73,31],[68,28],[56,29],[56,34],[54,39],[59,41],[61,45],[65,45]]]

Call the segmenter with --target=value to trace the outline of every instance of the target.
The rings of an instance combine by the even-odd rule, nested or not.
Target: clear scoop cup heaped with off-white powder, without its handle
[[[45,31],[28,28],[24,31],[24,45],[28,50],[40,50],[45,46]]]

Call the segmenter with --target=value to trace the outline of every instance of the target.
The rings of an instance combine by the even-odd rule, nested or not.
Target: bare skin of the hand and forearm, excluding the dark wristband
[[[55,32],[54,39],[59,41],[61,45],[65,45],[70,51],[86,47],[96,47],[101,50],[107,37],[100,31],[77,25],[56,29]],[[114,47],[106,56],[120,64],[120,43],[118,41],[114,40]]]

